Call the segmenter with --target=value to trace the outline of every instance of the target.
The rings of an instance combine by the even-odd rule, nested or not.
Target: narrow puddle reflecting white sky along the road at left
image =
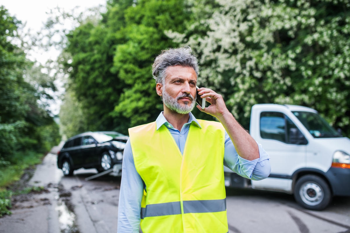
[[[59,228],[61,233],[80,233],[76,225],[74,207],[70,201],[71,193],[63,189],[63,185],[57,187],[58,195],[55,196],[58,212]]]

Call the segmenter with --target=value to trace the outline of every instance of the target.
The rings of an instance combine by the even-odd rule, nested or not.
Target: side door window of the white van
[[[302,133],[282,112],[261,112],[261,138],[274,139],[288,144],[301,144],[296,135],[302,136]]]

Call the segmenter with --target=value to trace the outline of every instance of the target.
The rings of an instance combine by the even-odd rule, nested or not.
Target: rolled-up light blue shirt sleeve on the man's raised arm
[[[225,131],[224,166],[247,179],[262,180],[267,178],[271,172],[270,157],[261,144],[258,144],[258,147],[260,155],[258,159],[243,159],[238,155],[229,134]]]

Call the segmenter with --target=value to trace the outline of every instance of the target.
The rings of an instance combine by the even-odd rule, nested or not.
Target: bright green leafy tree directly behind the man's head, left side
[[[123,33],[127,41],[117,45],[112,71],[127,85],[114,115],[123,115],[135,126],[154,121],[163,104],[155,92],[151,66],[156,55],[169,47],[178,46],[165,30],[185,29],[188,19],[182,1],[139,1],[125,12]]]

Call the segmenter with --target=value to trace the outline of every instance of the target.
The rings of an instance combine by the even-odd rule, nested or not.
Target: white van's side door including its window
[[[294,122],[284,113],[260,113],[260,138],[256,138],[270,155],[271,174],[265,180],[252,181],[252,188],[292,191],[292,174],[306,166],[306,140]]]

